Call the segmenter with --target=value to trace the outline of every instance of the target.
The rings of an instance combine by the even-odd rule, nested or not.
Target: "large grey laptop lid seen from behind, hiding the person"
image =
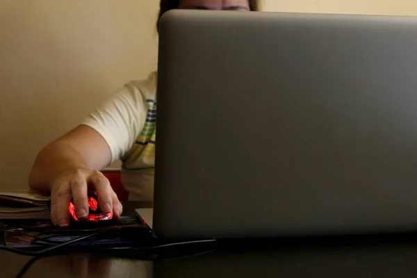
[[[172,10],[159,35],[156,236],[417,231],[417,18]]]

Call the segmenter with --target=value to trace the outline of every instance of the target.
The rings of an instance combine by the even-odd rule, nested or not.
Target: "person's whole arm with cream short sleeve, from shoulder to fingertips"
[[[102,211],[113,208],[115,217],[122,205],[108,179],[99,170],[122,158],[145,125],[145,95],[156,91],[155,79],[126,84],[75,129],[44,147],[35,159],[29,186],[51,193],[51,220],[70,223],[71,198],[77,218],[88,215],[88,190],[97,193]]]

